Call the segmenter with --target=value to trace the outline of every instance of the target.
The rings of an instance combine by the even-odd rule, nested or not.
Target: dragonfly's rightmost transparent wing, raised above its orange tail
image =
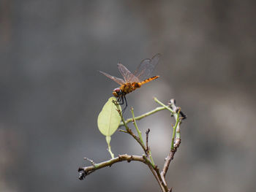
[[[135,71],[135,77],[137,77],[139,81],[143,81],[151,77],[151,73],[154,71],[155,66],[157,66],[160,56],[161,55],[158,53],[151,59],[146,58],[141,61]]]

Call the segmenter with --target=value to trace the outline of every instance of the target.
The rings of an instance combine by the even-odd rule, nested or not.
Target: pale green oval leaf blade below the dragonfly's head
[[[121,117],[113,101],[116,101],[116,98],[110,97],[98,116],[99,131],[105,136],[111,136],[115,133],[121,121]]]

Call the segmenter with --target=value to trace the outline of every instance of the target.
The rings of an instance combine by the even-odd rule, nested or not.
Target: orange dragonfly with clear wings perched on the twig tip
[[[115,88],[112,93],[113,96],[118,98],[117,101],[119,104],[124,104],[125,101],[124,110],[127,108],[127,99],[125,96],[128,93],[135,91],[137,88],[140,88],[141,85],[144,85],[147,82],[151,82],[152,80],[156,80],[159,77],[158,75],[150,77],[151,72],[154,71],[155,66],[157,66],[159,62],[159,57],[160,54],[158,53],[157,55],[154,55],[154,57],[151,59],[144,59],[140,62],[140,65],[133,74],[132,72],[129,72],[129,70],[123,64],[117,64],[118,70],[124,77],[124,80],[118,77],[114,77],[108,73],[99,71],[100,73],[104,74],[105,76],[120,85],[120,87]]]

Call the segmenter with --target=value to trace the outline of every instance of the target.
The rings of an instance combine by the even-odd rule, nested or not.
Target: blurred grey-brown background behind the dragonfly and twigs
[[[175,98],[188,116],[169,186],[255,191],[255,1],[0,2],[0,191],[159,191],[138,162],[77,172],[110,158],[97,115],[117,84],[98,70],[121,77],[118,62],[134,71],[156,53],[160,78],[127,99],[140,115]],[[173,122],[138,122],[161,168]],[[121,132],[111,146],[143,153]]]

